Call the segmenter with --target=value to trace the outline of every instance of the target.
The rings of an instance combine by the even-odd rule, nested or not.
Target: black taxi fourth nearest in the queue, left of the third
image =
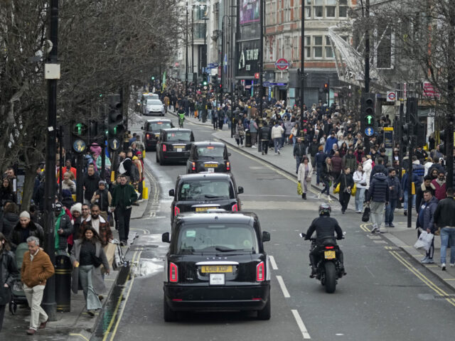
[[[156,144],[156,162],[164,165],[187,161],[193,142],[191,129],[162,129]]]

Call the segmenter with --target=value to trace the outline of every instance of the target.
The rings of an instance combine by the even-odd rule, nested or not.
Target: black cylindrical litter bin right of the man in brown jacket
[[[55,303],[57,311],[68,313],[71,308],[71,261],[68,254],[55,256]]]

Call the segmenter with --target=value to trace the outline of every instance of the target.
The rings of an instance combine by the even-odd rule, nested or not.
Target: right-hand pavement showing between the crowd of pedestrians
[[[173,114],[172,111],[169,111],[171,114]],[[202,122],[199,121],[198,119],[195,119],[193,117],[187,117],[186,120],[191,122],[192,124],[198,124],[201,126],[211,126],[212,124],[210,122]],[[265,163],[268,163],[270,166],[274,166],[279,169],[279,171],[282,171],[284,175],[287,177],[293,178],[295,181],[297,179],[297,175],[295,173],[296,169],[296,161],[293,156],[293,147],[292,144],[285,145],[280,151],[280,155],[275,156],[273,148],[269,148],[269,153],[267,155],[262,155],[262,153],[257,151],[257,148],[250,148],[250,147],[239,147],[237,146],[237,143],[235,139],[230,137],[230,129],[228,129],[228,125],[225,124],[225,129],[223,130],[218,130],[213,134],[217,139],[220,141],[225,142],[225,144],[228,144],[230,148],[236,148],[239,151],[242,151],[244,153],[247,153],[250,156],[253,156],[259,160],[264,161]],[[321,185],[316,185],[316,176],[313,176],[311,178],[311,185],[312,185],[312,190],[311,192],[314,193],[315,195],[319,193],[322,189],[322,184]],[[297,195],[297,194],[296,194]],[[335,195],[331,194],[331,197],[333,199],[332,207],[333,208],[338,208],[341,210],[341,205],[338,203],[338,197]],[[334,205],[333,205],[334,204]],[[354,203],[354,198],[351,198],[349,205],[348,205],[348,210],[353,210],[355,211],[355,203]],[[412,210],[412,212],[415,212],[415,210]],[[372,227],[372,224],[370,222],[368,223],[363,223],[360,220],[360,215],[358,222],[360,224],[360,228],[363,229],[364,232],[370,233],[370,229]],[[395,227],[381,227],[381,236],[385,239],[387,239],[390,243],[395,244],[395,247],[398,247],[405,251],[408,255],[410,255],[415,261],[420,262],[420,260],[425,256],[425,251],[422,249],[415,249],[414,248],[414,243],[417,241],[417,231],[415,229],[415,222],[417,219],[417,214],[412,217],[412,227],[407,228],[407,217],[405,217],[403,209],[397,209],[395,210],[395,218],[394,218],[394,224]],[[424,266],[428,271],[430,271],[434,276],[437,276],[437,278],[441,279],[441,281],[444,281],[447,286],[451,288],[455,288],[455,267],[451,268],[449,267],[449,259],[450,259],[450,249],[447,249],[447,268],[446,271],[441,271],[441,263],[440,263],[440,254],[441,254],[441,238],[440,237],[435,237],[434,239],[434,264],[426,264],[422,265]]]

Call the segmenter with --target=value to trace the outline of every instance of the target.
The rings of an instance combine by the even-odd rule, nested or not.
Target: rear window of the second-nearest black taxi
[[[234,198],[229,180],[186,180],[178,189],[178,200],[223,200]]]

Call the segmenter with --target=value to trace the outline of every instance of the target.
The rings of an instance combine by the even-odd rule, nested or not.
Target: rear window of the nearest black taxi
[[[177,240],[177,254],[257,253],[258,242],[248,224],[185,224]]]

